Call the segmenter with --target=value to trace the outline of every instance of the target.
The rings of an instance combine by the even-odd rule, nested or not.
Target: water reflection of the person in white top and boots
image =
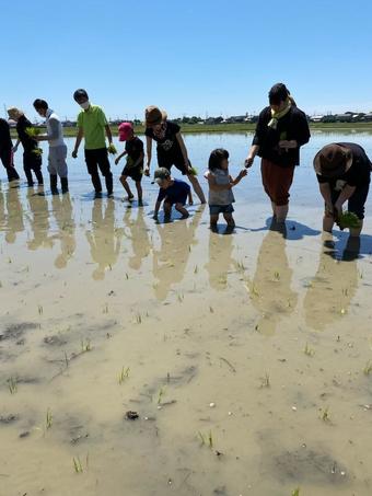
[[[65,268],[77,247],[74,239],[74,220],[73,209],[70,195],[67,193],[62,196],[54,195],[51,199],[53,214],[55,216],[59,233],[61,253],[55,259],[55,267]]]

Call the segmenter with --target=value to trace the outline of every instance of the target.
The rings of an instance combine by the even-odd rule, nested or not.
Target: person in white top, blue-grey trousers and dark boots
[[[37,99],[34,102],[34,108],[40,117],[44,117],[47,126],[46,135],[35,136],[37,141],[48,141],[48,171],[50,175],[50,191],[53,195],[58,195],[58,176],[60,178],[62,193],[68,193],[69,185],[67,178],[67,146],[63,141],[63,130],[60,118],[49,108],[47,102]]]

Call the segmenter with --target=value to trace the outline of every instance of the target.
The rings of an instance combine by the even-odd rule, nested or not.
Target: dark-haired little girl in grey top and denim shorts
[[[232,216],[234,211],[232,204],[235,201],[232,187],[240,183],[245,175],[247,175],[247,170],[243,169],[235,180],[231,177],[228,150],[218,148],[211,152],[205,177],[209,185],[210,229],[213,231],[217,230],[220,214],[223,214],[228,228],[233,229],[235,227]]]

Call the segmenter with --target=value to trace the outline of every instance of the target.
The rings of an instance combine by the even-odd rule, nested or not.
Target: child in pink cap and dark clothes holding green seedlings
[[[138,205],[142,207],[142,186],[141,180],[143,174],[143,141],[141,141],[133,131],[133,127],[130,123],[121,123],[119,125],[119,141],[125,141],[126,147],[125,151],[119,154],[119,157],[115,160],[115,164],[117,165],[120,159],[125,155],[128,155],[127,163],[123,169],[120,175],[120,183],[124,186],[124,189],[128,194],[128,201],[132,201],[135,198],[129,184],[127,182],[127,177],[130,177],[136,183],[137,194],[138,194]]]

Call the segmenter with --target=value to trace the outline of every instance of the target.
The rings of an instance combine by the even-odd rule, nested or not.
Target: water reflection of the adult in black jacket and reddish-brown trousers
[[[272,222],[259,249],[251,282],[251,301],[260,318],[256,330],[274,335],[280,321],[294,310],[298,295],[291,289],[292,269],[286,253],[286,226]]]

